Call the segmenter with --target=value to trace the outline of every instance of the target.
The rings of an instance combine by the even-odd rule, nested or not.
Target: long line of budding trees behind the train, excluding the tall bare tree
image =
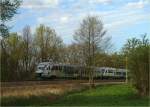
[[[1,40],[1,81],[34,79],[37,64],[49,59],[56,63],[86,65],[85,46],[83,42],[66,46],[55,30],[45,25],[38,26],[34,34],[30,26],[26,26],[22,34],[10,33]],[[105,49],[95,52],[94,61],[95,66],[125,67],[123,55],[109,55]]]

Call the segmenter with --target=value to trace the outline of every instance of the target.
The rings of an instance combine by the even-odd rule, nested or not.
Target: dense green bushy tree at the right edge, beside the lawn
[[[141,96],[149,94],[149,47],[146,34],[142,39],[129,39],[123,47],[123,52],[128,57],[132,83]]]

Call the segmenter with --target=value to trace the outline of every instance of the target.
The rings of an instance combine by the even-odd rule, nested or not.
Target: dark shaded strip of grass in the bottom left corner
[[[53,94],[28,97],[2,97],[1,106],[46,106],[58,97],[58,95]]]

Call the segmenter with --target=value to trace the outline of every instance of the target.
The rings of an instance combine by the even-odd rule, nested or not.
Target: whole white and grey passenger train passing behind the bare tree
[[[91,67],[92,75],[97,79],[125,79],[126,69],[112,67]],[[35,71],[37,78],[88,78],[89,73],[86,66],[58,64],[52,62],[41,62]]]

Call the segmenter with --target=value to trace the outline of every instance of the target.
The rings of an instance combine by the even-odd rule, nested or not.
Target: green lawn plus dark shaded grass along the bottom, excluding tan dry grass
[[[95,89],[73,91],[63,95],[43,94],[28,97],[2,97],[2,105],[22,106],[148,106],[130,85],[101,85]]]

